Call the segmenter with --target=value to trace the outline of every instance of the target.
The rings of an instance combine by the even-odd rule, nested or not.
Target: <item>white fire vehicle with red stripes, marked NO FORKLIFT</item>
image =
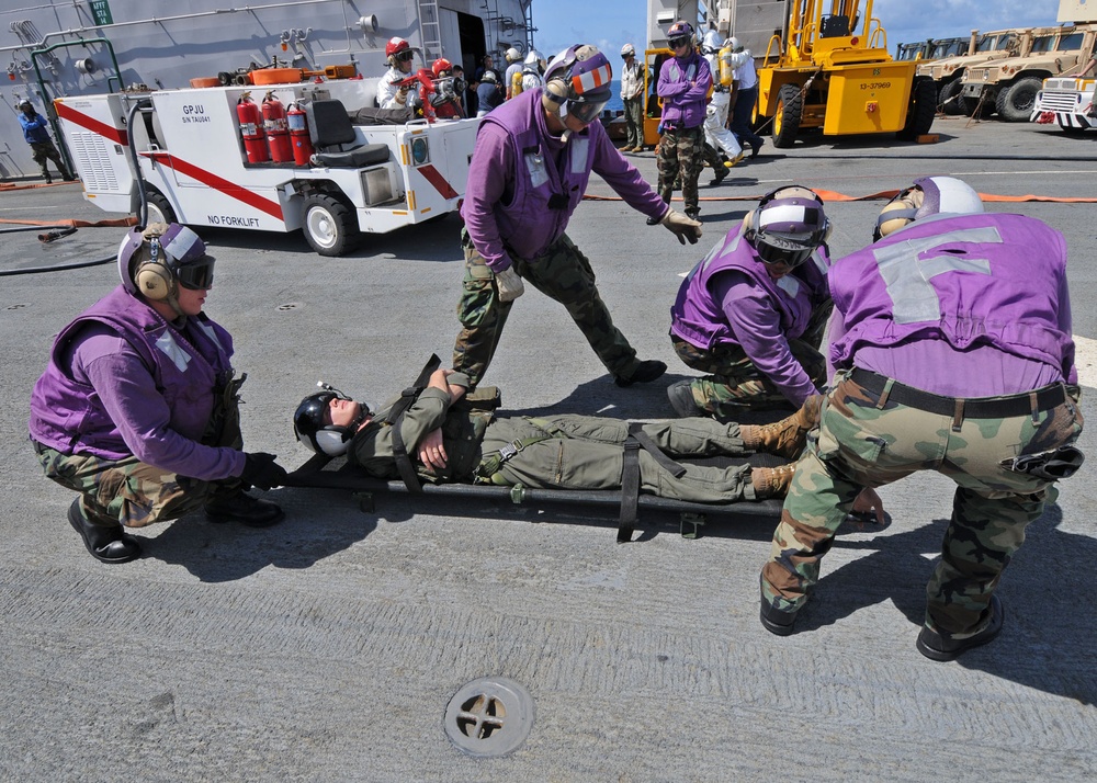
[[[139,175],[150,222],[304,229],[316,252],[340,256],[361,234],[453,212],[468,177],[478,121],[372,124],[380,121],[364,115],[378,113],[372,109],[376,83],[298,77],[293,83],[58,98],[54,104],[84,197],[103,209],[136,213]],[[268,104],[282,116],[268,117],[264,132],[259,106],[268,116]]]

